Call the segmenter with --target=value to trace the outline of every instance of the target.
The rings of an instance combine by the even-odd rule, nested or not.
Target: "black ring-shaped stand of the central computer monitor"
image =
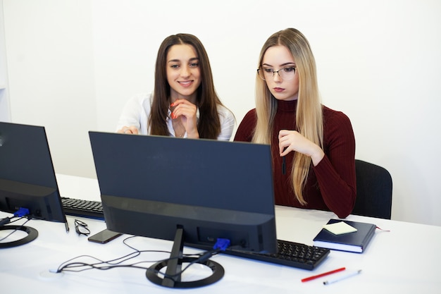
[[[210,259],[204,261],[196,261],[197,257],[182,257],[182,249],[184,247],[184,228],[177,228],[173,248],[170,253],[170,259],[163,262],[156,262],[149,269],[147,269],[146,276],[152,283],[168,288],[197,288],[201,286],[208,286],[219,281],[224,274],[224,269],[221,264],[213,262]],[[197,281],[181,281],[182,263],[195,262],[204,264],[209,267],[213,274],[206,278]],[[167,267],[165,276],[159,271]],[[160,277],[159,275],[163,276]]]

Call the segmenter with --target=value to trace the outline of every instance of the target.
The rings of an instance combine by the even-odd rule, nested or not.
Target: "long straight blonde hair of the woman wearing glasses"
[[[308,40],[302,32],[287,28],[275,32],[261,49],[259,68],[269,47],[282,45],[290,50],[299,75],[299,95],[297,101],[297,131],[323,149],[323,111],[318,92],[316,61]],[[274,117],[277,112],[277,99],[271,94],[266,82],[256,75],[256,115],[257,123],[253,142],[271,144]],[[292,163],[292,188],[301,204],[306,204],[303,195],[304,185],[311,167],[311,157],[299,152],[294,153]]]

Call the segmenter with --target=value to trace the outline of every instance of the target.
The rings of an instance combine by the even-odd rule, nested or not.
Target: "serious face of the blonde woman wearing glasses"
[[[280,45],[269,47],[263,55],[261,68],[266,74],[266,85],[275,99],[290,101],[298,98],[299,75],[294,57],[287,47]],[[279,72],[272,73],[272,71]]]

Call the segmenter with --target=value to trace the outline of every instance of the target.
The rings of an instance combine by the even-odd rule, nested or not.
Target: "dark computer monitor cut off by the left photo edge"
[[[44,127],[0,122],[0,210],[15,213],[20,207],[32,219],[68,228]]]

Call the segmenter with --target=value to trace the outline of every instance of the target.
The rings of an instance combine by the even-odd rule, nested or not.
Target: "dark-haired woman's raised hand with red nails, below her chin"
[[[186,99],[177,99],[170,104],[170,107],[174,107],[171,118],[180,118],[182,125],[187,132],[187,137],[199,138],[199,132],[197,131],[197,107],[196,105],[188,102]]]

